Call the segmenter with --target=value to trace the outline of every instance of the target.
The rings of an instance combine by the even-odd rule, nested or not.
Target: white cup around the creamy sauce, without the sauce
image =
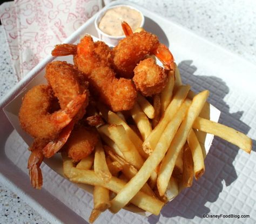
[[[107,44],[110,44],[110,45],[113,45],[113,46],[116,46],[118,44],[119,40],[122,40],[123,38],[125,38],[125,35],[122,35],[122,36],[112,36],[112,35],[106,34],[102,30],[99,29],[98,25],[99,25],[100,20],[105,15],[107,10],[110,10],[110,9],[113,9],[113,8],[117,8],[117,7],[121,7],[121,6],[128,7],[128,8],[131,8],[131,9],[136,10],[137,12],[139,12],[140,16],[142,17],[142,22],[140,23],[139,27],[143,27],[144,21],[145,21],[143,13],[141,11],[139,11],[138,9],[130,6],[130,5],[114,5],[112,7],[109,7],[109,8],[106,8],[106,9],[100,11],[98,13],[96,19],[95,19],[95,27],[96,27],[96,30],[98,32],[99,39],[103,40]]]

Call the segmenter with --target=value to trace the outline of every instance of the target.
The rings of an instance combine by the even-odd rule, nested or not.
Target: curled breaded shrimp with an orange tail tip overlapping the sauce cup
[[[156,35],[144,30],[133,33],[126,22],[122,23],[122,27],[126,38],[120,40],[109,55],[109,60],[120,77],[132,78],[133,69],[149,54],[156,55],[166,69],[174,69],[172,53],[159,43]]]

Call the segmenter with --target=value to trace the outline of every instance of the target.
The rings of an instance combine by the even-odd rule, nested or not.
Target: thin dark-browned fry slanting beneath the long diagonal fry
[[[138,173],[138,170],[133,165],[127,163],[122,157],[119,157],[109,147],[104,146],[104,150],[107,153],[107,155],[109,155],[112,158],[112,160],[118,162],[122,166],[122,172],[127,179],[132,179]],[[152,197],[156,197],[156,195],[154,195],[154,192],[147,183],[144,184],[141,191],[151,195]]]

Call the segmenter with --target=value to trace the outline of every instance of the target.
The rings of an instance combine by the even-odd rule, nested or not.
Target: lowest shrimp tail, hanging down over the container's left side
[[[44,155],[41,148],[33,150],[28,160],[28,169],[31,185],[40,190],[43,185],[43,175],[40,168]]]

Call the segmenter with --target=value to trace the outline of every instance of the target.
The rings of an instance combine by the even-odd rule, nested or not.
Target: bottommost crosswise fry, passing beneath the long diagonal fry
[[[126,183],[117,177],[112,176],[110,181],[105,183],[102,179],[98,178],[94,171],[80,170],[74,167],[71,169],[70,180],[76,183],[102,186],[115,193],[120,192],[126,186]],[[151,212],[154,215],[158,215],[161,208],[164,206],[162,201],[151,197],[144,192],[136,192],[134,197],[131,199],[131,202],[139,208]]]

